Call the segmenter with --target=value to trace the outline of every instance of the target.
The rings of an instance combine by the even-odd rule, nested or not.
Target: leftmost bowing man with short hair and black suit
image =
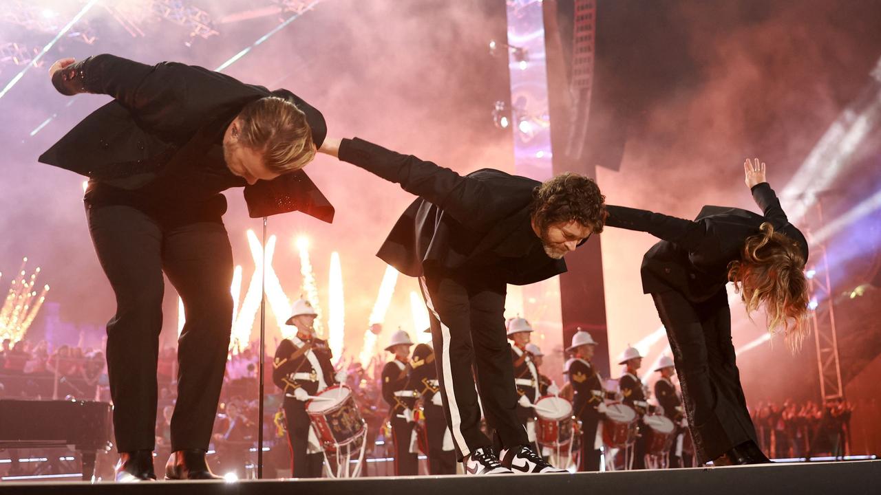
[[[49,74],[62,94],[113,98],[40,161],[89,178],[89,232],[116,296],[107,323],[116,479],[156,478],[163,272],[187,314],[166,477],[215,477],[204,457],[233,320],[233,252],[220,192],[244,187],[252,217],[300,210],[330,221],[332,207],[300,170],[322,144],[324,119],[292,92],[182,63],[105,54],[59,60]]]

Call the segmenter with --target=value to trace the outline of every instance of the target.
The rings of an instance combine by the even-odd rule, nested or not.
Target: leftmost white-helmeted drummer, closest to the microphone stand
[[[324,457],[306,403],[325,388],[345,381],[345,372],[334,373],[327,342],[315,338],[316,316],[309,301],[293,302],[293,314],[286,324],[295,326],[297,335],[278,344],[272,364],[272,381],[285,394],[283,407],[292,477],[322,476]]]

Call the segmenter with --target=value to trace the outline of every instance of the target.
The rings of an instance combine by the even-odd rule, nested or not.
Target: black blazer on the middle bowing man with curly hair
[[[426,269],[492,275],[498,268],[499,279],[522,285],[566,271],[565,262],[544,255],[530,225],[538,181],[491,168],[462,176],[357,137],[343,140],[339,159],[419,196],[377,254],[405,275],[420,277]]]

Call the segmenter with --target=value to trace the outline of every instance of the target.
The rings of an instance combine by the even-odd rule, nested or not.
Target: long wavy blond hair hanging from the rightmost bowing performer
[[[740,260],[728,265],[728,279],[744,301],[747,316],[765,307],[769,332],[781,329],[793,352],[801,349],[810,333],[808,279],[804,255],[794,240],[774,232],[768,222],[746,238]]]

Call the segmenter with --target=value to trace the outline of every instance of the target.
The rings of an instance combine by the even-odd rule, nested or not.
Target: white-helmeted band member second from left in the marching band
[[[416,476],[419,474],[418,454],[412,447],[413,409],[416,406],[418,392],[410,383],[409,372],[410,336],[398,330],[391,336],[386,351],[395,358],[382,368],[382,398],[389,403],[389,420],[391,421],[391,438],[395,444],[395,475]]]

